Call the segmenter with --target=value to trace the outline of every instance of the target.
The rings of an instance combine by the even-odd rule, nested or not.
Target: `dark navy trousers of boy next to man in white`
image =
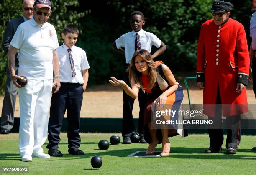
[[[58,149],[60,142],[62,120],[67,110],[68,121],[68,148],[78,148],[80,146],[80,111],[83,100],[83,88],[77,83],[61,83],[57,93],[51,97],[50,119],[49,119],[49,144],[46,148]]]

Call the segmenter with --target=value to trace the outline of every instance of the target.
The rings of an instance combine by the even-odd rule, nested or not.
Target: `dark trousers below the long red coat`
[[[215,117],[208,117],[209,120],[213,120],[212,128],[223,128],[222,123],[222,109],[221,109],[221,99],[220,91],[218,88],[217,100],[216,100],[216,112]],[[238,145],[241,140],[241,117],[240,115],[233,115],[226,117],[226,127],[227,131],[227,140],[226,148],[233,147],[238,148]],[[209,129],[208,130],[210,137],[210,147],[219,149],[223,144],[223,129]]]

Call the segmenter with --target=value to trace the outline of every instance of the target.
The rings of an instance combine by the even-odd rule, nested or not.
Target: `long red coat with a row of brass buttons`
[[[249,53],[243,25],[231,18],[223,25],[215,25],[213,20],[203,23],[197,48],[197,78],[204,76],[204,106],[216,104],[219,88],[223,116],[247,112],[246,89],[237,94],[236,86],[242,79],[246,79],[247,85],[248,73]],[[225,109],[228,104],[232,105]],[[214,116],[215,110],[204,107],[204,113]]]

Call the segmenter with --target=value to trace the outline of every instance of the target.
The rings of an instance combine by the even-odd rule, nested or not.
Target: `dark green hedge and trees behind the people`
[[[2,0],[0,4],[0,41],[6,23],[19,17],[21,2]],[[110,76],[123,77],[125,57],[111,48],[112,42],[125,32],[131,31],[130,14],[140,10],[145,15],[143,29],[157,35],[167,46],[157,58],[163,60],[174,73],[195,71],[197,40],[203,22],[211,19],[213,0],[52,0],[53,13],[49,22],[56,27],[59,44],[61,31],[67,23],[77,24],[80,30],[77,46],[87,53],[90,64],[89,84],[108,83]],[[248,35],[251,17],[251,1],[230,0],[234,7],[231,18],[241,22]],[[80,5],[80,6],[79,6]],[[248,35],[248,43],[251,38]],[[153,48],[152,52],[156,49]],[[0,92],[4,90],[5,60],[0,49]],[[193,76],[193,75],[189,75]]]

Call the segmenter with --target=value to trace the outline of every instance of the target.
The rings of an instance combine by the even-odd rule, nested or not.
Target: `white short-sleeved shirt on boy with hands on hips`
[[[131,58],[135,52],[135,35],[136,32],[133,30],[131,32],[125,33],[124,35],[120,36],[120,38],[115,40],[115,44],[118,49],[121,47],[125,48],[126,63],[131,62]],[[141,41],[141,49],[145,49],[148,50],[148,52],[151,52],[152,45],[156,46],[157,48],[161,45],[161,40],[153,33],[146,32],[141,29],[138,32],[138,35]]]

